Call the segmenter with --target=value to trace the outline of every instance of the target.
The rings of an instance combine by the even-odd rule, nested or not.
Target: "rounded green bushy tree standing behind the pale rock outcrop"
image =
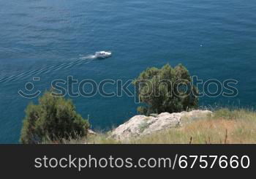
[[[192,85],[189,71],[182,64],[175,68],[169,64],[161,69],[148,68],[133,84],[144,104],[138,107],[139,113],[178,113],[197,107],[197,88]]]

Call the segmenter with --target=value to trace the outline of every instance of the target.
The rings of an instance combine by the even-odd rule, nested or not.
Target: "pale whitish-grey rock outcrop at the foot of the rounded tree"
[[[172,127],[181,126],[189,121],[199,118],[206,118],[212,115],[209,110],[192,110],[181,113],[161,113],[151,116],[135,115],[126,123],[121,124],[110,133],[110,137],[116,140],[129,140],[130,137],[140,137],[142,135],[159,132]]]

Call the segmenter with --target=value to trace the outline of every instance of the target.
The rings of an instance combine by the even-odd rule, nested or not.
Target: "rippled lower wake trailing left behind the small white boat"
[[[95,55],[86,55],[86,56],[80,56],[79,58],[72,58],[69,62],[63,63],[63,64],[56,64],[53,66],[47,66],[42,69],[34,69],[27,72],[22,72],[18,75],[12,75],[12,76],[5,76],[0,78],[0,83],[8,83],[12,81],[22,80],[23,78],[30,77],[31,75],[37,76],[37,75],[45,75],[49,72],[54,72],[60,69],[69,69],[73,66],[78,66],[81,64],[89,64],[91,61],[94,61],[94,59],[97,59],[97,56]]]

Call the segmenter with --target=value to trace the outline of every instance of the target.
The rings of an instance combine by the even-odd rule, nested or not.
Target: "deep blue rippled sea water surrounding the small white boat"
[[[148,66],[181,63],[203,80],[238,80],[238,96],[201,105],[255,107],[255,12],[255,0],[1,0],[0,143],[18,142],[24,110],[37,102],[18,94],[26,83],[45,91],[69,75],[125,81]],[[85,59],[98,50],[113,56]],[[138,106],[126,95],[72,100],[94,129],[123,123]]]

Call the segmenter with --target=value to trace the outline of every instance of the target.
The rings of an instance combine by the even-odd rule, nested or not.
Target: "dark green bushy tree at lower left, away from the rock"
[[[53,96],[46,92],[39,98],[39,104],[29,104],[23,120],[20,142],[39,143],[43,140],[61,142],[61,139],[75,139],[86,136],[89,121],[75,112],[71,100]]]

